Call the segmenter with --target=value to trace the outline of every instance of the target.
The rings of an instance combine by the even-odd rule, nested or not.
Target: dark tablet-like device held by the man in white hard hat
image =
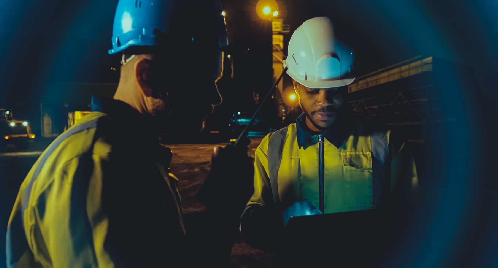
[[[384,215],[369,209],[292,217],[284,228],[276,257],[294,264],[327,260],[335,260],[335,264],[372,264],[389,241],[391,221]]]

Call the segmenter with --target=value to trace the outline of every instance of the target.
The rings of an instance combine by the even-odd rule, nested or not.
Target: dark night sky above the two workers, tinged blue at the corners
[[[36,105],[51,83],[117,83],[118,59],[107,54],[117,0],[16,0],[0,5],[1,107]],[[258,51],[264,44],[263,22],[256,0],[224,0],[232,45]],[[360,55],[362,73],[421,55],[432,55],[476,67],[496,68],[497,1],[330,1],[280,0],[280,17],[291,32],[304,20],[330,16],[338,37]],[[192,4],[195,8],[195,1]],[[186,19],[189,18],[186,14]],[[202,22],[201,22],[202,23]],[[286,42],[290,34],[285,36]],[[252,53],[251,62],[234,58],[235,84],[269,88],[268,60]],[[119,69],[118,69],[119,70]],[[256,72],[256,73],[254,73]],[[237,74],[240,74],[237,76]],[[245,74],[245,75],[244,75]],[[251,86],[253,87],[253,86]],[[228,90],[228,89],[223,89]],[[252,94],[237,87],[234,96]],[[239,94],[240,93],[240,94]],[[496,93],[495,93],[496,94]],[[241,101],[244,101],[241,100]],[[234,102],[238,100],[234,99]]]

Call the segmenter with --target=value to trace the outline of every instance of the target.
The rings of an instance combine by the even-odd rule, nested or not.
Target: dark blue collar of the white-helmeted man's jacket
[[[312,131],[306,125],[306,115],[302,113],[296,120],[297,126],[297,145],[301,148],[306,141],[314,135],[318,135],[319,132]],[[346,141],[346,139],[351,135],[354,125],[354,116],[351,111],[343,111],[337,118],[336,122],[332,124],[328,129],[321,132],[321,134],[336,148],[341,147],[341,145]]]

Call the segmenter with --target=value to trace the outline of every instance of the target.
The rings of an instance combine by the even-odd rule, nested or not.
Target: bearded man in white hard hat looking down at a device
[[[254,193],[241,217],[251,246],[277,250],[292,216],[380,208],[397,187],[417,186],[403,142],[346,103],[353,56],[336,42],[327,17],[309,19],[293,33],[285,66],[303,113],[255,151]]]

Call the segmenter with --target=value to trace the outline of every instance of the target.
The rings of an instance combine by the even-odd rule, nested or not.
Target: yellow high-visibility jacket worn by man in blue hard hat
[[[171,152],[131,107],[114,111],[86,115],[36,161],[8,221],[7,267],[149,267],[178,254]]]

